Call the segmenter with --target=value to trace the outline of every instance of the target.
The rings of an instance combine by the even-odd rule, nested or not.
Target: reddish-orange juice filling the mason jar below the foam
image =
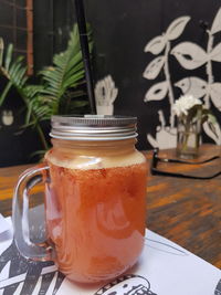
[[[108,280],[134,265],[144,244],[146,164],[70,169],[50,164],[48,230],[61,272]]]

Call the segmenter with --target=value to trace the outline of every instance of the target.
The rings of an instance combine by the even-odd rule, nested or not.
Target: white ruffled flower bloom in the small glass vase
[[[189,110],[197,105],[199,105],[199,108],[202,106],[202,102],[199,98],[196,98],[193,95],[183,95],[175,102],[172,112],[178,117],[181,115],[187,116]]]

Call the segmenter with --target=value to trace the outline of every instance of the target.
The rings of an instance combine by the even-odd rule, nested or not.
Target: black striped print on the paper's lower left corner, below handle
[[[53,278],[55,284],[52,294],[55,295],[61,287],[64,275],[56,271],[53,262],[31,262],[24,259],[17,250],[14,241],[0,255],[0,274],[10,263],[9,276],[0,280],[0,291],[3,295],[12,295],[23,283],[20,294],[31,295],[38,282],[41,286],[39,295],[45,295]]]

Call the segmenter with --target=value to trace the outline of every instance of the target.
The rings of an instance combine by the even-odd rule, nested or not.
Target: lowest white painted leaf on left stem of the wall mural
[[[147,92],[145,96],[145,102],[161,101],[167,95],[167,92],[168,92],[167,81],[157,83],[154,86],[151,86]]]

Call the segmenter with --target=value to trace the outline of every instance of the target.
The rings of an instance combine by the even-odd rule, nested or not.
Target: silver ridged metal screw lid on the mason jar
[[[137,137],[136,117],[84,115],[52,116],[52,138],[66,140],[122,140]]]

